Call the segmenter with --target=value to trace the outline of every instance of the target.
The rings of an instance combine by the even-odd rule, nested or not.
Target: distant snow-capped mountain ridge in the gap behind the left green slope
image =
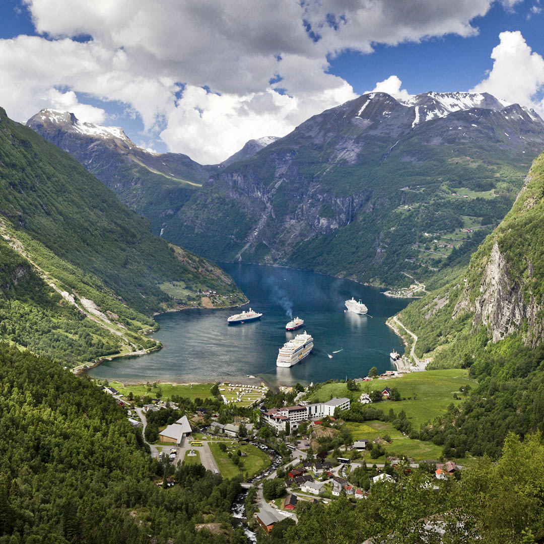
[[[44,109],[30,118],[27,126],[70,153],[129,208],[149,219],[156,234],[209,176],[226,164],[254,156],[276,140],[250,140],[224,163],[202,166],[182,153],[141,149],[122,128],[84,123],[69,112]]]

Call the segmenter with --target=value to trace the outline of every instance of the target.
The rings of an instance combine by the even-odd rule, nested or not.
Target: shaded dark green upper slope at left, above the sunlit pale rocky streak
[[[0,110],[0,214],[56,256],[94,274],[136,310],[172,304],[159,284],[186,281],[237,292],[204,259],[152,236],[149,221],[131,212],[69,154]],[[238,293],[239,294],[239,293]]]

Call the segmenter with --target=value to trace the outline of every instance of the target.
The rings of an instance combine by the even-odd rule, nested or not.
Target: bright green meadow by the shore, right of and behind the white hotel
[[[376,408],[388,413],[392,408],[395,413],[404,410],[414,429],[419,430],[422,423],[433,421],[435,417],[446,412],[449,404],[457,404],[453,394],[456,392],[461,397],[459,388],[462,386],[474,386],[474,381],[468,378],[468,370],[447,369],[428,370],[425,372],[414,372],[406,374],[401,378],[391,380],[373,380],[362,382],[360,391],[348,391],[346,384],[325,384],[315,391],[311,397],[312,401],[322,402],[333,397],[349,397],[357,399],[361,392],[396,387],[400,397],[406,400],[397,402],[383,401],[375,404]],[[408,400],[411,397],[411,400]],[[391,434],[391,433],[390,433]],[[392,436],[392,435],[391,435]],[[361,437],[366,438],[366,437]]]

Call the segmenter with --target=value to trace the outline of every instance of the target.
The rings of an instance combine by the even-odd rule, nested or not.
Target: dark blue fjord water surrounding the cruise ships
[[[248,296],[250,306],[263,313],[261,320],[228,326],[227,317],[242,311],[238,308],[163,314],[156,318],[160,330],[153,335],[162,342],[162,350],[107,361],[89,375],[123,382],[183,383],[246,381],[249,374],[269,385],[293,385],[361,378],[373,366],[384,372],[393,368],[390,351],[403,353],[400,339],[385,321],[409,300],[307,271],[239,263],[221,266]],[[361,299],[372,317],[344,312],[344,301],[351,296]],[[304,319],[298,331],[285,330],[291,316]],[[312,353],[294,367],[277,368],[278,349],[304,330],[313,336]]]

